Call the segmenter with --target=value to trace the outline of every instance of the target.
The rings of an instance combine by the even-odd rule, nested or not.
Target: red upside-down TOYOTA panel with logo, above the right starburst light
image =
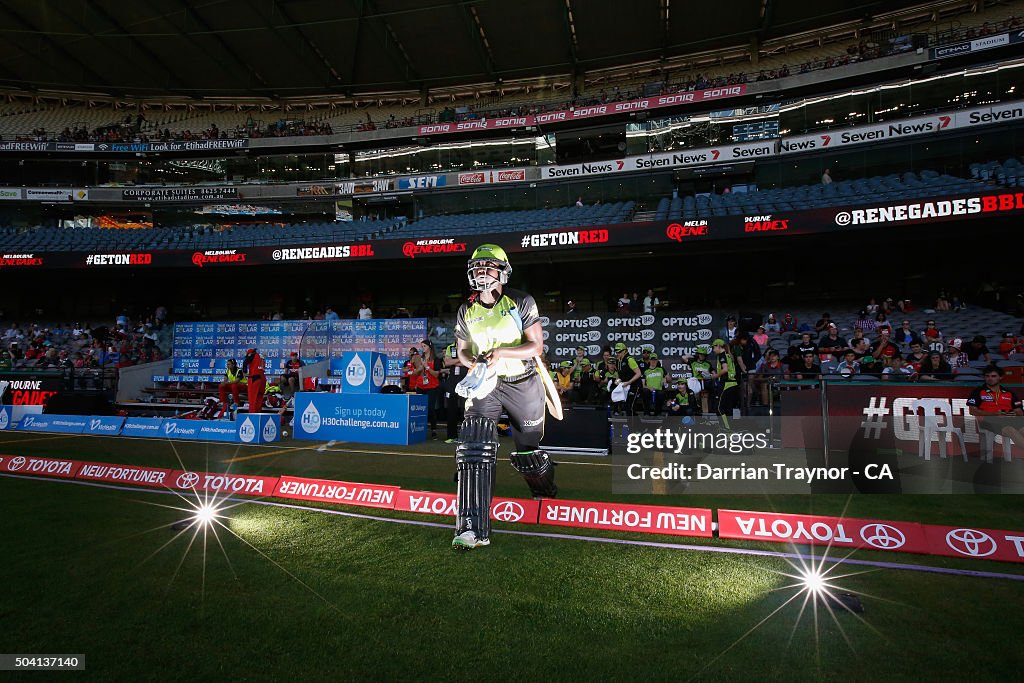
[[[719,510],[718,535],[768,543],[929,552],[925,530],[916,522]]]

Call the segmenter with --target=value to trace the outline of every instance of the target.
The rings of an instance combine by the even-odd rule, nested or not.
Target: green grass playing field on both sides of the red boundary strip
[[[443,444],[386,454],[301,445],[0,435],[3,454],[158,467],[178,467],[180,458],[189,469],[455,490]],[[236,458],[245,460],[225,462]],[[559,467],[564,498],[610,500],[604,461],[584,463]],[[498,493],[526,495],[507,463]],[[179,505],[173,496],[10,477],[0,477],[0,651],[86,657],[84,674],[26,679],[1013,680],[1024,666],[1015,638],[1024,629],[1024,585],[1006,580],[843,567],[837,572],[856,575],[837,583],[863,594],[862,620],[822,609],[815,620],[807,609],[798,622],[803,599],[784,604],[797,591],[784,588],[795,582],[782,572],[794,568],[777,558],[507,533],[454,553],[446,527],[255,504],[232,508],[223,520],[230,532],[210,535],[204,552],[202,535],[189,547],[191,531],[175,539],[167,528],[182,516],[162,507]],[[1011,496],[615,500],[1024,527],[1020,499]],[[855,557],[1024,573],[967,559]]]

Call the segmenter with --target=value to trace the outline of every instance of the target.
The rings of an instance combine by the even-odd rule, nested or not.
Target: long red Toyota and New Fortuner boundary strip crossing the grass
[[[6,455],[0,456],[0,474],[130,484],[134,489],[284,498],[420,514],[454,516],[456,512],[454,494],[290,475],[195,472]],[[707,508],[631,503],[496,498],[492,504],[490,516],[498,521],[523,524],[705,539],[715,538],[716,530],[713,511]],[[737,510],[719,510],[718,520],[717,536],[720,539],[968,557],[1024,564],[1024,532],[1018,531]]]

